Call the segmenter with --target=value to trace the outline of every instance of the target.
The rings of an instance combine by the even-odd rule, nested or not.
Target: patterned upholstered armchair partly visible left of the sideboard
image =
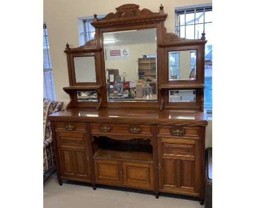
[[[54,164],[53,138],[51,137],[50,121],[47,115],[61,111],[63,102],[57,102],[50,99],[44,99],[44,172]]]

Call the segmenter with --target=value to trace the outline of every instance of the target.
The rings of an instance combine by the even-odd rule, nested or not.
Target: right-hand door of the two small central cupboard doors
[[[139,187],[153,187],[153,164],[123,162],[124,184]]]

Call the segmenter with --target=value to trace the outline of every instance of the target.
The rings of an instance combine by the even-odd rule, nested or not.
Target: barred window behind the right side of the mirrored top
[[[205,46],[205,109],[212,112],[212,5],[195,5],[175,9],[175,33],[181,38],[200,39],[206,33]],[[195,62],[191,54],[191,69]]]

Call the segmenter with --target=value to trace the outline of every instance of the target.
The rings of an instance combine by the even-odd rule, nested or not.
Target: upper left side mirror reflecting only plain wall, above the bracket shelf
[[[96,82],[94,56],[74,57],[76,82]]]

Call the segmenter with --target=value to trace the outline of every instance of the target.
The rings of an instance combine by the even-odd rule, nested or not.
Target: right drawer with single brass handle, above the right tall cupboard
[[[158,126],[158,136],[200,137],[200,127]]]

